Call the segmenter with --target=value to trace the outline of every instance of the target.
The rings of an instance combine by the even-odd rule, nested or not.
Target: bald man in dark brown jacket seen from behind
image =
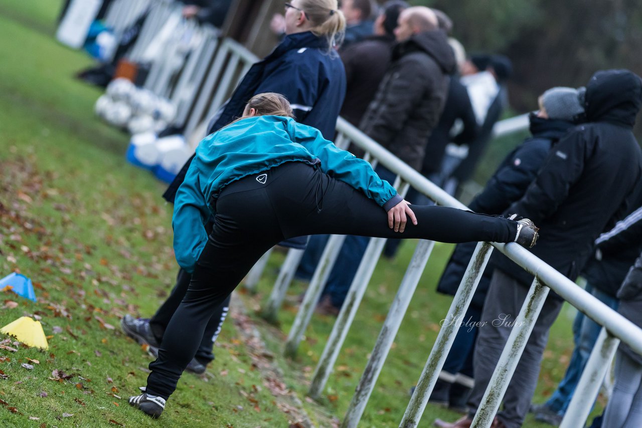
[[[395,37],[392,63],[360,128],[420,169],[426,141],[446,103],[455,56],[446,33],[438,29],[437,15],[423,6],[399,15]]]

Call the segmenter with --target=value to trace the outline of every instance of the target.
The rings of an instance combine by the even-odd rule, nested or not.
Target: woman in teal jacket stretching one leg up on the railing
[[[339,150],[292,116],[281,95],[258,94],[240,119],[196,148],[172,220],[178,264],[193,272],[192,279],[169,321],[158,359],[150,364],[147,387],[129,399],[150,416],[162,413],[213,311],[283,239],[351,234],[524,246],[537,239],[528,219],[437,206],[410,209],[368,162]],[[208,237],[204,223],[211,215]]]

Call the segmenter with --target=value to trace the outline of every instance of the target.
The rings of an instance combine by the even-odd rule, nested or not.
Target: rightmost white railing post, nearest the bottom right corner
[[[619,344],[620,339],[612,336],[607,329],[602,327],[600,336],[598,336],[591,351],[591,356],[586,362],[586,367],[584,368],[584,372],[582,372],[580,382],[578,382],[577,388],[575,388],[571,403],[568,409],[566,409],[566,413],[564,413],[564,419],[562,419],[560,428],[584,427],[586,418],[588,418],[589,413],[591,413],[593,402],[600,391],[602,379],[604,379],[604,375],[609,368],[611,368],[611,361],[616,350],[618,350]]]

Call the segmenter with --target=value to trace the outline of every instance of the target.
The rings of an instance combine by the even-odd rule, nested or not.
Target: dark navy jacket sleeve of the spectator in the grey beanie
[[[535,180],[549,148],[546,141],[531,141],[510,153],[482,193],[475,198],[471,209],[484,214],[501,214],[519,200]]]

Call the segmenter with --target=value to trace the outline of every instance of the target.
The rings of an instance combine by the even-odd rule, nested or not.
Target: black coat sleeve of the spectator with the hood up
[[[550,151],[537,179],[507,212],[528,216],[536,225],[553,215],[582,175],[586,151],[589,150],[587,145],[581,130],[569,133],[558,142]]]

